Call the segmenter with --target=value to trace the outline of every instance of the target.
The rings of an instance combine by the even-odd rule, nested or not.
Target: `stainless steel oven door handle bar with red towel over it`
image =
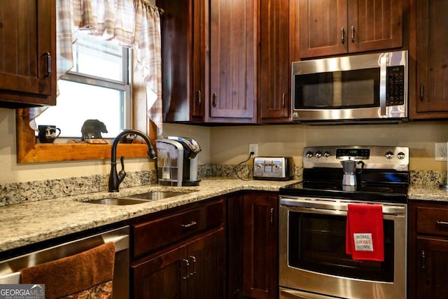
[[[281,197],[280,205],[283,207],[294,207],[294,208],[302,208],[309,209],[313,211],[328,211],[327,214],[338,214],[338,215],[346,215],[349,209],[349,204],[359,204],[360,202],[343,202],[343,201],[329,201],[322,200],[319,198],[306,198],[306,199],[298,199],[298,198],[289,198],[289,197]],[[374,204],[369,203],[369,204]],[[391,215],[404,215],[406,214],[405,206],[398,206],[394,204],[384,204],[381,203],[383,207],[383,214],[391,214]]]

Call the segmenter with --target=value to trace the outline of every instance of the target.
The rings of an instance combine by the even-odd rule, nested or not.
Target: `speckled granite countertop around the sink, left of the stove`
[[[147,185],[123,188],[119,193],[97,192],[10,204],[0,207],[0,252],[238,190],[278,191],[281,186],[292,182],[205,179],[201,181],[200,186],[194,187]],[[127,206],[86,203],[89,200],[122,197],[152,190],[181,190],[190,193]]]

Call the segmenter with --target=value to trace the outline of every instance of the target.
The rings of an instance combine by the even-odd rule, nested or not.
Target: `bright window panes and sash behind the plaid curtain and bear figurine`
[[[57,106],[36,118],[56,125],[61,137],[80,138],[85,120],[106,125],[103,138],[131,127],[132,51],[89,34],[73,43],[73,68],[58,81]],[[73,104],[75,103],[75,104]]]

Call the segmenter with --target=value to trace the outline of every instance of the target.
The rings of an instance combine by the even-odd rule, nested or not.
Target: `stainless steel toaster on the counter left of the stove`
[[[253,158],[253,179],[287,181],[294,177],[292,157]]]

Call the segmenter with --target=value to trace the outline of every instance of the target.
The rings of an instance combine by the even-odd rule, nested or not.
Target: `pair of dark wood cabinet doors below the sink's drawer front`
[[[225,298],[224,228],[132,266],[134,298]]]

